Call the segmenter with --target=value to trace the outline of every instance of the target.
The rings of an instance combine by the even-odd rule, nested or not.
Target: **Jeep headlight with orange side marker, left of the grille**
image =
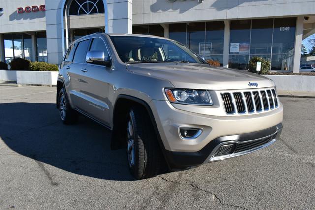
[[[177,104],[212,105],[212,99],[207,90],[165,89],[168,100]]]

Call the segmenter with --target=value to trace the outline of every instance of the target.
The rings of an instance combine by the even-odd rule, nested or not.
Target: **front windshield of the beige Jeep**
[[[125,63],[207,63],[176,41],[137,36],[111,36],[111,40],[119,58]]]

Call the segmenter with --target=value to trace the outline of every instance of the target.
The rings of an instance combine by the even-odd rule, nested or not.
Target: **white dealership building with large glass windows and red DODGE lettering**
[[[0,0],[0,59],[58,64],[95,32],[177,40],[221,66],[299,72],[302,40],[315,33],[315,0]]]

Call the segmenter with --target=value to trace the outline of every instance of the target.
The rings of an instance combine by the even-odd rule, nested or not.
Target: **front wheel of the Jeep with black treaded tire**
[[[131,174],[136,179],[150,178],[158,174],[161,150],[150,117],[139,106],[130,109],[127,116],[127,160]]]

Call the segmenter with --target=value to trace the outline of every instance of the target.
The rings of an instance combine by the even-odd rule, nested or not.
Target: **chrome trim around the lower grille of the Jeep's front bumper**
[[[226,142],[222,142],[220,144],[218,144],[216,146],[216,148],[211,152],[211,154],[208,156],[208,158],[206,159],[205,163],[208,163],[208,162],[215,162],[215,161],[220,161],[220,160],[225,160],[227,158],[231,158],[231,157],[237,157],[237,156],[241,156],[241,155],[245,155],[245,154],[249,154],[249,153],[252,153],[252,152],[255,152],[257,150],[260,150],[260,149],[263,149],[271,144],[273,144],[276,140],[277,140],[277,137],[279,137],[281,133],[281,129],[276,131],[275,133],[271,134],[271,135],[268,135],[266,137],[262,137],[262,138],[259,138],[259,139],[255,139],[255,140],[248,140],[248,141],[238,141],[238,140],[231,140],[231,141],[226,141]],[[274,134],[277,134],[276,137],[274,139],[272,139],[271,141],[269,141],[268,143],[264,144],[264,145],[261,145],[261,146],[258,146],[256,148],[253,148],[253,149],[250,149],[250,150],[246,150],[246,151],[243,151],[243,152],[238,152],[238,153],[233,153],[233,154],[229,154],[229,155],[222,155],[222,156],[217,156],[217,157],[214,157],[214,155],[216,154],[216,152],[218,151],[218,149],[220,149],[221,146],[223,145],[226,145],[226,144],[243,144],[243,143],[248,143],[248,142],[251,142],[251,141],[256,141],[256,140],[261,140],[261,139],[264,139],[264,138],[268,138],[270,136],[273,136]]]

